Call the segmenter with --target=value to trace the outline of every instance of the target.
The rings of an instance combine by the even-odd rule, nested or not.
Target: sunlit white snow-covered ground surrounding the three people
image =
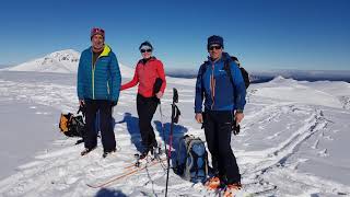
[[[174,148],[176,139],[185,134],[205,139],[200,125],[194,120],[195,81],[168,78],[168,82],[162,100],[166,135],[173,86],[178,89],[182,111],[179,124],[175,126]],[[36,148],[32,150],[36,153],[31,162],[28,158],[25,163],[13,162],[20,166],[0,181],[0,196],[163,196],[166,174],[161,164],[105,188],[86,186],[121,174],[124,167],[133,162],[133,153],[140,148],[136,91],[121,92],[114,109],[118,151],[102,159],[98,144],[86,157],[80,157],[83,144],[75,146],[77,139],[57,135],[60,112],[77,111],[75,76],[0,72],[1,136],[18,135],[13,141],[0,139],[0,144],[7,144],[1,147],[1,166],[15,157],[7,154],[10,147]],[[349,109],[350,84],[346,82],[277,78],[249,86],[243,128],[232,139],[245,186],[238,196],[350,195]],[[153,126],[158,140],[164,144],[161,119],[158,112]],[[50,146],[40,140],[47,134],[54,140]],[[168,193],[170,196],[215,196],[201,184],[186,182],[173,171]]]

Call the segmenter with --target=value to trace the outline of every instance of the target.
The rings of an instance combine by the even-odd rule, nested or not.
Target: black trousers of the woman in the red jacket
[[[137,109],[139,115],[139,128],[142,138],[142,146],[147,150],[158,146],[151,124],[156,106],[158,101],[155,97],[144,97],[141,94],[138,94]]]

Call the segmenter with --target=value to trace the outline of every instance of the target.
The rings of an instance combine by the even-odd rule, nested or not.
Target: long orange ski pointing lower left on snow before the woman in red
[[[89,187],[92,187],[92,188],[101,188],[101,187],[107,186],[107,185],[109,185],[109,184],[112,184],[112,183],[115,183],[115,182],[117,182],[117,181],[119,181],[119,179],[121,179],[121,178],[124,178],[124,177],[130,176],[130,175],[132,175],[132,174],[137,174],[138,172],[140,172],[140,171],[142,171],[142,170],[144,170],[144,169],[147,169],[147,167],[154,166],[154,165],[161,163],[162,161],[163,161],[163,160],[152,160],[151,162],[148,162],[148,163],[145,163],[144,165],[140,165],[139,167],[135,166],[135,169],[132,169],[132,170],[130,170],[130,171],[127,171],[127,172],[125,172],[125,173],[121,173],[121,174],[119,174],[119,175],[116,175],[116,176],[114,176],[113,178],[110,178],[110,179],[108,179],[108,181],[106,181],[106,182],[104,182],[104,183],[101,183],[101,184],[97,184],[97,185],[93,185],[93,184],[86,184],[86,185],[88,185]],[[165,161],[165,159],[164,159],[164,161]]]

